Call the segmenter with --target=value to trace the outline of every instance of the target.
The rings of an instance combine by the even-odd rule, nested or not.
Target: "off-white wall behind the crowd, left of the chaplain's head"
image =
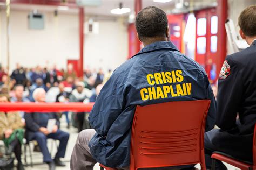
[[[40,11],[40,10],[39,10]],[[28,29],[30,11],[12,10],[10,16],[10,69],[16,63],[66,68],[67,59],[79,58],[78,14],[43,11],[44,30]],[[99,21],[99,34],[84,37],[84,66],[114,69],[127,57],[127,31],[122,20]],[[6,16],[0,12],[0,61],[6,66]]]

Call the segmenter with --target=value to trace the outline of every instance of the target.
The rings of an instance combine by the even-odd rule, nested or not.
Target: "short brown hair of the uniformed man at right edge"
[[[256,5],[248,6],[241,12],[238,25],[245,36],[256,36]]]

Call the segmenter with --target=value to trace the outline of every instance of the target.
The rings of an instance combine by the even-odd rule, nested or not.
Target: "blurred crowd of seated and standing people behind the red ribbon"
[[[2,67],[0,69],[0,102],[95,102],[103,83],[109,79],[110,75],[111,70],[104,75],[102,69],[98,72],[85,69],[84,76],[77,77],[72,65],[68,65],[68,69],[64,71],[56,67],[49,70],[40,66],[28,69],[18,64],[11,75],[8,75]],[[36,141],[34,149],[42,152],[43,161],[49,165],[49,169],[65,166],[60,158],[64,158],[69,133],[59,129],[59,117],[65,115],[67,128],[70,128],[72,123],[80,132],[91,128],[86,120],[86,114],[89,113],[0,112],[0,140],[4,141],[6,147],[4,154],[11,155],[14,152],[18,169],[24,169],[21,161],[21,146],[25,138],[26,143]],[[56,125],[52,131],[47,128],[49,119],[56,119]],[[46,147],[48,138],[60,141],[55,159],[51,158]],[[1,155],[3,156],[3,153],[0,157]]]

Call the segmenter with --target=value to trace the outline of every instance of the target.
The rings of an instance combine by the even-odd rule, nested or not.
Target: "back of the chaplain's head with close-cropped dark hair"
[[[163,10],[149,6],[138,13],[135,25],[139,39],[144,41],[146,38],[165,37],[168,19]]]

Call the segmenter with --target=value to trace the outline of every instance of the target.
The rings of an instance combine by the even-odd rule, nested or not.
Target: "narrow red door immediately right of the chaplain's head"
[[[170,40],[182,52],[184,14],[168,15]]]

